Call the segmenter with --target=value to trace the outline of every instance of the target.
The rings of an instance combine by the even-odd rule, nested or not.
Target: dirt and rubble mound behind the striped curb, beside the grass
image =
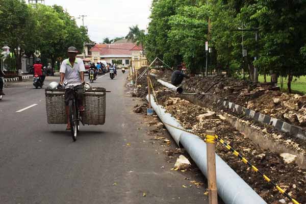
[[[160,71],[160,78],[167,81],[171,78],[171,70]],[[306,94],[282,93],[269,84],[253,84],[250,81],[227,78],[224,75],[212,77],[191,77],[185,79],[182,86],[189,93],[212,93],[214,97],[225,98],[256,112],[283,119],[286,122],[306,128]],[[209,97],[200,96],[203,103],[211,102]]]

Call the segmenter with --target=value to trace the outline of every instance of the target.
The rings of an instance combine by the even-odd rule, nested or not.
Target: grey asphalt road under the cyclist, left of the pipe
[[[148,143],[147,125],[133,113],[136,101],[125,93],[125,77],[106,75],[93,84],[112,91],[107,93],[106,124],[81,126],[77,142],[64,124],[47,124],[44,89],[35,89],[31,81],[5,87],[1,204],[208,203],[205,187],[190,188],[186,175],[171,171],[173,164]],[[49,77],[45,84],[58,80]]]

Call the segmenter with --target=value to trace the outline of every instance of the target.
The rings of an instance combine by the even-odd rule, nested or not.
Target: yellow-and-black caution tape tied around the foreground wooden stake
[[[151,88],[152,88],[152,91],[153,91],[153,94],[154,94],[154,97],[155,97],[155,101],[156,101],[156,104],[158,106],[158,109],[159,109],[159,112],[161,113],[161,110],[160,110],[160,106],[158,104],[158,100],[157,100],[157,97],[156,97],[156,94],[155,94],[155,90],[154,90],[154,87],[152,85],[152,82],[151,82],[151,79],[149,78],[149,81],[150,81],[150,85],[151,85]],[[161,119],[163,121],[163,115],[161,115]],[[174,125],[171,125],[171,124],[168,124],[166,122],[164,122],[165,125],[168,125],[168,126],[171,126],[177,130],[181,130],[181,131],[184,131],[184,132],[187,132],[187,133],[191,133],[191,134],[194,134],[194,135],[197,135],[199,137],[203,137],[203,138],[206,138],[206,143],[215,143],[215,139],[217,141],[219,141],[224,147],[226,147],[228,150],[232,151],[233,154],[240,158],[241,161],[245,164],[247,164],[249,167],[252,168],[253,171],[255,172],[258,172],[259,174],[261,174],[264,178],[265,181],[267,181],[268,183],[272,184],[280,193],[282,193],[284,196],[286,196],[288,199],[290,199],[294,204],[300,204],[298,201],[296,201],[295,199],[293,199],[288,193],[285,192],[285,190],[283,190],[281,187],[279,187],[277,184],[275,184],[271,179],[269,179],[269,177],[267,175],[265,175],[262,171],[260,171],[256,166],[254,166],[253,164],[251,164],[247,159],[245,159],[243,156],[241,156],[239,154],[238,151],[236,151],[233,147],[231,147],[229,144],[227,144],[223,139],[221,139],[219,136],[215,135],[215,136],[212,136],[212,135],[207,135],[207,134],[201,134],[201,133],[196,133],[194,131],[191,131],[191,130],[186,130],[186,129],[182,129],[181,127],[177,127],[177,126],[174,126]]]

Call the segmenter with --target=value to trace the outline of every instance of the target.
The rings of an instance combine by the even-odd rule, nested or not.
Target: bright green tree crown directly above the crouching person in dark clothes
[[[167,42],[170,52],[167,55],[177,60],[175,64],[184,61],[192,72],[196,72],[203,68],[206,60],[209,9],[206,4],[188,4],[190,6],[177,8],[177,14],[169,17],[171,30]]]

